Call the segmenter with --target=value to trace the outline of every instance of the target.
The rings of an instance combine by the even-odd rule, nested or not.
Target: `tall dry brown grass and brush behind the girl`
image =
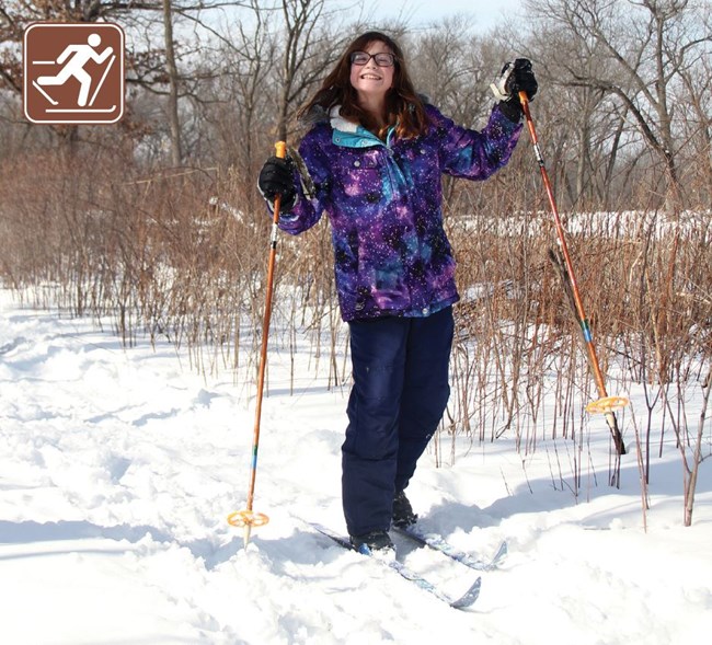
[[[440,458],[450,435],[483,442],[514,433],[522,454],[546,439],[582,450],[593,383],[548,257],[555,235],[547,206],[528,173],[449,193],[463,300]],[[253,377],[269,222],[252,182],[222,169],[147,175],[115,152],[45,153],[3,162],[0,191],[2,279],[33,304],[108,318],[127,345],[168,338],[204,372],[243,368]],[[604,372],[621,392],[643,384],[651,411],[662,402],[681,446],[684,393],[712,359],[710,226],[709,214],[645,209],[567,221]],[[325,222],[296,240],[280,237],[273,330],[291,350],[303,335],[313,367],[328,365],[330,387],[338,387],[349,377],[347,329],[332,262]],[[653,428],[651,417],[634,419],[646,473],[668,429]],[[572,459],[574,479],[583,461]]]

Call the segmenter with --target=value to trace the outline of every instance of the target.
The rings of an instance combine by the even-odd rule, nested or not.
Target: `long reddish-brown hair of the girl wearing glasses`
[[[374,42],[383,43],[395,57],[393,87],[386,95],[383,117],[387,126],[380,129],[374,123],[374,118],[358,105],[358,95],[351,84],[351,55],[354,51],[363,51]],[[382,130],[390,126],[395,126],[395,134],[402,138],[422,135],[427,127],[425,106],[413,89],[403,51],[393,38],[381,32],[366,32],[352,42],[336,62],[336,67],[324,79],[321,88],[299,111],[299,116],[307,115],[315,105],[326,111],[334,105],[341,105],[341,115],[344,118],[359,123],[379,137],[382,137]]]

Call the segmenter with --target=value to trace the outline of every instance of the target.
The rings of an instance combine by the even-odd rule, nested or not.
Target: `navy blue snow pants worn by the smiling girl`
[[[452,308],[427,318],[352,321],[354,385],[342,446],[342,495],[352,535],[391,526],[393,496],[443,417],[450,385]]]

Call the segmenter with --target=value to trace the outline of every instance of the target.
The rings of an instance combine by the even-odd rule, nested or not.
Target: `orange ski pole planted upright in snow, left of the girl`
[[[276,156],[284,159],[287,156],[287,145],[284,141],[275,143]],[[275,261],[277,257],[277,224],[279,223],[279,207],[282,195],[275,197],[272,218],[272,234],[269,238],[269,262],[267,263],[267,291],[265,295],[264,315],[262,319],[262,348],[260,352],[260,367],[257,370],[257,401],[254,414],[254,433],[252,438],[252,460],[250,462],[250,487],[248,492],[248,507],[244,510],[231,512],[228,522],[244,529],[244,548],[248,548],[252,527],[262,527],[269,521],[263,512],[254,512],[254,484],[257,476],[257,450],[260,449],[260,421],[262,418],[262,398],[264,392],[265,367],[267,364],[267,336],[269,335],[269,319],[272,316],[272,291],[274,284]]]

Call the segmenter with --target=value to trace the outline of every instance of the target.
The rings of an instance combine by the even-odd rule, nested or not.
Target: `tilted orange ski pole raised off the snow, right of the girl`
[[[594,347],[594,337],[590,331],[590,325],[588,324],[588,319],[586,318],[586,311],[584,310],[584,303],[581,298],[581,293],[578,292],[578,286],[576,284],[576,276],[574,274],[573,263],[571,262],[571,255],[569,254],[564,227],[561,223],[561,218],[559,217],[559,209],[556,208],[554,193],[551,187],[551,182],[549,181],[549,173],[547,172],[544,159],[541,154],[541,149],[539,148],[539,139],[537,137],[537,130],[535,129],[533,120],[531,118],[531,112],[529,111],[529,97],[527,96],[526,92],[519,92],[519,102],[521,103],[521,108],[524,110],[525,119],[527,122],[527,127],[529,128],[529,135],[531,137],[531,143],[535,150],[535,156],[539,164],[539,170],[541,171],[541,178],[543,180],[547,195],[549,196],[551,211],[554,216],[556,235],[559,238],[559,244],[561,246],[561,252],[564,260],[565,276],[569,280],[569,286],[571,287],[571,296],[575,310],[574,313],[576,314],[577,322],[581,326],[582,336],[586,346],[588,366],[594,376],[594,380],[596,381],[596,389],[598,390],[598,399],[596,401],[592,401],[586,405],[586,412],[602,413],[606,415],[606,423],[608,424],[611,436],[613,437],[616,452],[618,454],[625,454],[625,445],[623,444],[623,437],[620,433],[620,429],[618,428],[618,422],[616,419],[613,411],[628,405],[629,400],[625,396],[609,396],[608,392],[606,391],[604,375],[600,371],[598,357],[596,356],[596,348]]]

